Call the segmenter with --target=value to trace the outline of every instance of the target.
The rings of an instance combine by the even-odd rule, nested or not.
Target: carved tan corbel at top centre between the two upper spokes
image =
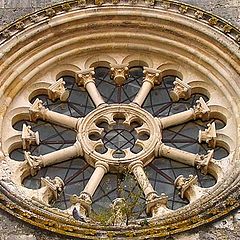
[[[117,86],[122,86],[128,77],[128,65],[111,65],[111,78]]]

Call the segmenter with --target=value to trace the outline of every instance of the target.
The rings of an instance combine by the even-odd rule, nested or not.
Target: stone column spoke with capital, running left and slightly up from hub
[[[40,99],[36,99],[33,105],[29,108],[30,121],[37,121],[42,119],[51,123],[55,123],[59,126],[76,129],[81,118],[66,116],[61,113],[53,112],[43,106]]]

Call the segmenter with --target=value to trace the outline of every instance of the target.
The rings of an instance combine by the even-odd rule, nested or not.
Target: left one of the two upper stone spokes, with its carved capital
[[[87,90],[95,106],[98,107],[105,102],[95,85],[94,74],[93,68],[80,72],[78,74],[77,84],[78,86],[83,86]]]

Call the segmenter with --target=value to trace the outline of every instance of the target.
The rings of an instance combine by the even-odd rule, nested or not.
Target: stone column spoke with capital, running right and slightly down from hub
[[[157,149],[157,155],[160,157],[170,158],[174,161],[195,166],[201,170],[203,174],[208,173],[209,162],[213,159],[214,150],[209,150],[206,155],[193,154],[177,148],[161,144]]]

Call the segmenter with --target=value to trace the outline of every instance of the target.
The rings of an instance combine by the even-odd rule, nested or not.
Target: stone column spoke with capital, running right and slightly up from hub
[[[202,121],[208,120],[210,117],[210,109],[203,98],[196,101],[196,105],[187,111],[176,113],[174,115],[159,118],[162,129],[172,127],[175,125],[183,124],[191,120],[201,119]]]

